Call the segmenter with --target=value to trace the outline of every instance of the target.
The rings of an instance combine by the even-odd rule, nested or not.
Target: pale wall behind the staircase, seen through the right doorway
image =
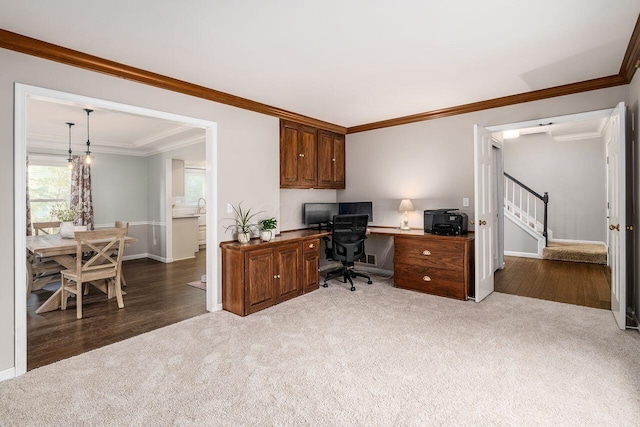
[[[546,133],[505,140],[504,171],[549,193],[554,239],[607,240],[607,156],[603,138],[556,142]],[[538,215],[542,218],[542,214]]]

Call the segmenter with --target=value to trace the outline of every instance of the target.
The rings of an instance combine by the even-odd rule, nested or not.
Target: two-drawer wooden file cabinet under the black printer
[[[473,257],[471,235],[396,235],[395,286],[467,300],[473,286]]]

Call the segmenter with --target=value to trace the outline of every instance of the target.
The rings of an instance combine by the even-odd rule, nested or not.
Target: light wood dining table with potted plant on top
[[[110,241],[111,239],[103,239],[102,241],[96,240],[92,241],[91,243],[97,247],[100,247],[101,243],[103,243],[102,246],[105,246]],[[137,241],[138,239],[136,239],[135,237],[126,236],[124,238],[124,245],[125,247],[127,247],[131,243]],[[65,269],[73,270],[76,268],[76,250],[76,240],[63,238],[60,236],[60,234],[27,236],[27,251],[30,254],[55,261]],[[87,248],[87,251],[90,250],[90,248]],[[31,275],[28,276],[29,277],[27,277],[27,280],[33,280],[33,277],[31,277]],[[29,286],[29,283],[27,283],[27,286]],[[51,295],[44,303],[42,303],[40,307],[38,307],[36,313],[46,313],[48,311],[55,311],[60,308],[62,303],[60,293],[61,289],[58,288],[53,293],[53,295]]]

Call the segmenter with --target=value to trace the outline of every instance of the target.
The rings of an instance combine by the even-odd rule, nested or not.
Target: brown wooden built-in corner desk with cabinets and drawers
[[[369,227],[394,239],[394,286],[466,300],[473,286],[473,234]],[[220,243],[222,307],[246,316],[318,289],[320,238],[326,230],[285,231],[270,242]],[[427,254],[428,253],[428,254]]]

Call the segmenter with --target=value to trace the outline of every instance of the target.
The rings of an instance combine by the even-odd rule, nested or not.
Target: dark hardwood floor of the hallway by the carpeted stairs
[[[495,290],[594,308],[611,308],[610,273],[606,265],[505,257],[496,271]]]

